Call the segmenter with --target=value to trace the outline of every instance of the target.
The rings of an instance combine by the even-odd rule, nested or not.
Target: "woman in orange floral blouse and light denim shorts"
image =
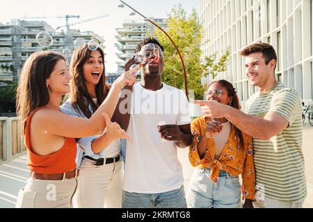
[[[205,93],[207,100],[240,109],[232,83],[217,80]],[[195,168],[187,192],[188,207],[252,207],[255,200],[255,167],[252,138],[241,132],[227,119],[198,117],[191,123],[193,143],[189,160]]]

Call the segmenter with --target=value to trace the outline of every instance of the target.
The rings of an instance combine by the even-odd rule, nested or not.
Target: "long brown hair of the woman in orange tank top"
[[[16,96],[16,110],[17,115],[21,117],[23,135],[29,114],[49,102],[46,80],[50,77],[58,60],[65,60],[65,58],[52,51],[40,51],[31,54],[24,63]]]

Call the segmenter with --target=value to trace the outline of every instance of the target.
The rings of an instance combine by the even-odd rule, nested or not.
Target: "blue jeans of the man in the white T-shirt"
[[[138,194],[123,190],[123,208],[186,208],[184,185],[161,194]]]

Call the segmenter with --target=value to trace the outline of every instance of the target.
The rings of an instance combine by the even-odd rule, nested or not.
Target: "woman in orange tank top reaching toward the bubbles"
[[[62,96],[70,92],[65,58],[42,51],[26,60],[17,87],[17,114],[29,154],[31,178],[19,191],[16,207],[72,207],[77,187],[74,138],[102,134],[111,124],[120,89],[136,78],[122,74],[112,85],[106,100],[90,119],[72,117],[59,110]],[[130,139],[124,130],[115,139]]]

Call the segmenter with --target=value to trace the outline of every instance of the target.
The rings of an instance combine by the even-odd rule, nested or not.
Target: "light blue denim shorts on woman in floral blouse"
[[[239,177],[220,171],[215,184],[210,178],[209,169],[196,168],[189,182],[186,199],[188,208],[240,208]]]

